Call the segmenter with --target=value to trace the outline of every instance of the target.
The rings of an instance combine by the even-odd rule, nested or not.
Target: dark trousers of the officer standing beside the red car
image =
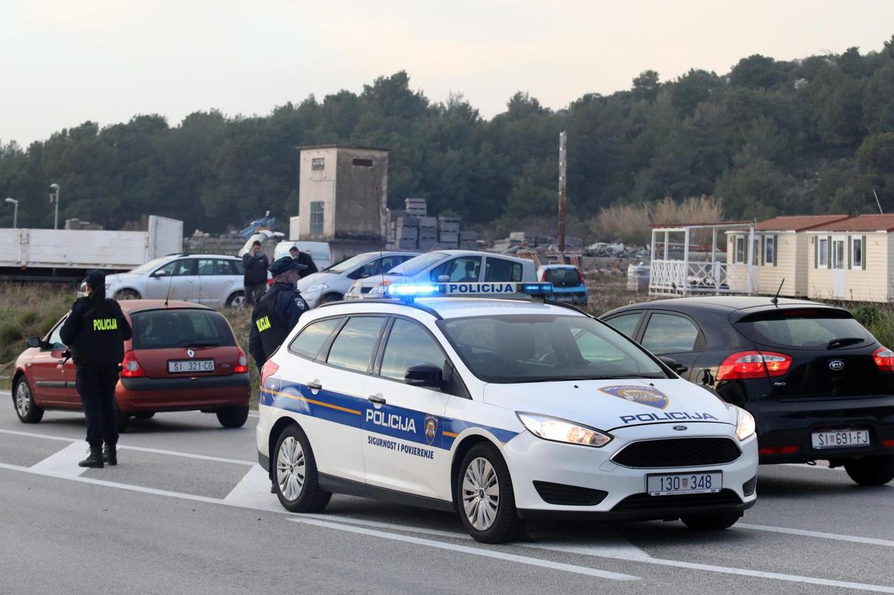
[[[118,383],[117,364],[79,365],[74,376],[80,402],[87,416],[87,441],[101,447],[118,442],[114,387]]]

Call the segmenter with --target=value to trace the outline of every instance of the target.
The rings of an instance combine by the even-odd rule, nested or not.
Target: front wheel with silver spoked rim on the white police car
[[[460,519],[469,535],[484,543],[515,537],[522,523],[515,511],[509,467],[493,444],[480,442],[469,449],[456,484]]]

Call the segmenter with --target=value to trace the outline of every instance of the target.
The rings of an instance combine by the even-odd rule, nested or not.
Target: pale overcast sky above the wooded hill
[[[265,115],[401,70],[489,119],[519,90],[561,109],[648,69],[865,54],[892,34],[890,0],[0,0],[0,142],[138,113]]]

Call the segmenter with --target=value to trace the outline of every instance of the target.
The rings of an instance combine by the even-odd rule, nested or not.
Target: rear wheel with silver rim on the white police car
[[[295,513],[323,510],[332,493],[320,489],[316,459],[308,437],[297,425],[286,428],[276,441],[274,484],[283,508]]]

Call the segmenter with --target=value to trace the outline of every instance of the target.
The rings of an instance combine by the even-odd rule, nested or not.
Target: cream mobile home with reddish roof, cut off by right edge
[[[807,297],[894,300],[894,214],[866,214],[807,231]]]

